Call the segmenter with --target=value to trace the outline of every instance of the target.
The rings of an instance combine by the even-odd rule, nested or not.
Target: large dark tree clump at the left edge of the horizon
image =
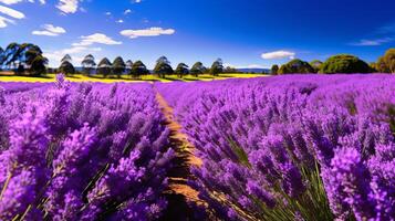
[[[10,43],[6,49],[0,48],[0,70],[37,76],[46,72],[46,65],[48,59],[35,44]]]

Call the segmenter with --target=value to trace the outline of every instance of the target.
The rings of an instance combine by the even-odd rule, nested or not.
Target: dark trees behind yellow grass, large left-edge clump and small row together
[[[12,70],[18,75],[42,75],[49,72],[61,72],[66,75],[73,75],[79,71],[72,63],[72,57],[66,54],[61,60],[61,65],[58,69],[48,69],[48,59],[43,56],[40,46],[30,43],[11,43],[6,50],[0,48],[0,71],[2,69]],[[218,76],[220,73],[237,72],[232,67],[224,67],[221,59],[217,59],[210,67],[206,67],[201,62],[196,62],[191,67],[185,63],[179,63],[176,69],[171,67],[171,63],[166,56],[160,56],[156,61],[155,69],[150,72],[142,61],[132,62],[121,56],[115,57],[111,62],[107,57],[102,59],[97,64],[95,57],[92,54],[86,55],[81,62],[82,73],[89,76],[102,75],[108,77],[115,75],[121,77],[122,75],[129,75],[131,77],[138,78],[142,75],[156,74],[159,77],[166,77],[166,75],[176,74],[178,77],[185,75],[198,76],[200,74],[211,74]]]

